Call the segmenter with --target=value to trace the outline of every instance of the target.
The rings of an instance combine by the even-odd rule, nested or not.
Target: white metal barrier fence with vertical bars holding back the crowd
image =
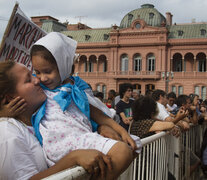
[[[175,138],[167,132],[141,139],[142,152],[120,176],[119,180],[197,180],[199,172],[190,174],[192,163],[199,154],[206,125],[191,126],[190,130]],[[67,169],[45,178],[47,180],[89,179],[82,167]]]

